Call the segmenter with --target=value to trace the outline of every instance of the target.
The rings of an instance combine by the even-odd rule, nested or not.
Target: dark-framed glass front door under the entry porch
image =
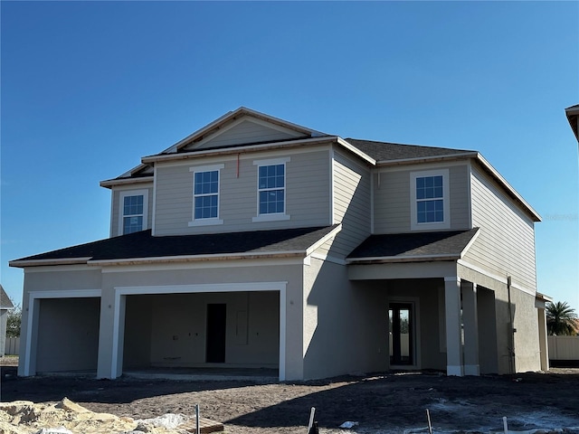
[[[414,364],[413,305],[390,303],[390,364]]]

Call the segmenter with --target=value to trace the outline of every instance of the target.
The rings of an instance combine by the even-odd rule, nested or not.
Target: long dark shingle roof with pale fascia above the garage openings
[[[139,231],[40,255],[15,259],[13,267],[79,263],[143,263],[184,259],[234,259],[305,255],[340,231],[341,225],[154,237]]]

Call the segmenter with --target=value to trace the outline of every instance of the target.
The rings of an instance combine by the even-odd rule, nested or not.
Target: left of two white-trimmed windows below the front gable
[[[191,167],[193,172],[193,222],[199,224],[221,224],[219,219],[219,171],[223,165]]]

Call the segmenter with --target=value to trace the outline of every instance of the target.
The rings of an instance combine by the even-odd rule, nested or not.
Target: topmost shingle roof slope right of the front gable
[[[431,147],[417,145],[400,145],[396,143],[375,142],[372,140],[359,140],[346,138],[352,146],[356,146],[367,156],[376,161],[405,160],[409,158],[427,158],[432,156],[451,156],[456,154],[470,154],[475,151],[464,149],[451,149],[448,147]]]

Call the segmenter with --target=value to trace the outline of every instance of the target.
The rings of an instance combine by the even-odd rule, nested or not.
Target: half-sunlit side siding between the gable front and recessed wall
[[[334,154],[334,222],[342,223],[331,249],[346,256],[370,234],[370,171]]]

